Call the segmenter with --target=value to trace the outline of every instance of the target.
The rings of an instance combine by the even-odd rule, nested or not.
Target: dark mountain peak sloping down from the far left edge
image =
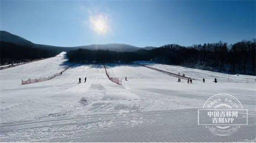
[[[10,42],[14,44],[34,44],[23,37],[11,34],[7,31],[0,31],[0,41]]]

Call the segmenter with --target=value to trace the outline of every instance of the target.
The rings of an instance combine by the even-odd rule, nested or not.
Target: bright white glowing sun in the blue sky
[[[103,15],[94,15],[90,17],[90,23],[92,29],[98,34],[106,34],[109,25],[108,25],[108,17]]]

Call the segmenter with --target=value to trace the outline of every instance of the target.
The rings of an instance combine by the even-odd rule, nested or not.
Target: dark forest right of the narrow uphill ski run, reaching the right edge
[[[181,46],[168,44],[152,50],[115,52],[109,50],[71,50],[70,62],[133,62],[149,61],[182,65],[191,68],[256,75],[256,39],[236,44],[218,42]]]

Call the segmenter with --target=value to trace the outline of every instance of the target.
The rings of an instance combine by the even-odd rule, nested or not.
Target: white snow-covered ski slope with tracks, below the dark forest
[[[123,78],[117,85],[101,64],[76,64],[52,80],[21,85],[70,66],[64,54],[0,70],[0,142],[256,141],[255,76],[140,62],[198,79],[187,84],[136,63],[106,64],[110,76]],[[233,136],[215,136],[197,124],[197,110],[217,93],[248,109],[248,125]]]

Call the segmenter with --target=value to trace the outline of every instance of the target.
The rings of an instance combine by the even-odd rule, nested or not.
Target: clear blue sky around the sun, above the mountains
[[[98,16],[103,34],[90,22]],[[256,1],[1,0],[0,29],[55,46],[233,44],[256,37]]]

